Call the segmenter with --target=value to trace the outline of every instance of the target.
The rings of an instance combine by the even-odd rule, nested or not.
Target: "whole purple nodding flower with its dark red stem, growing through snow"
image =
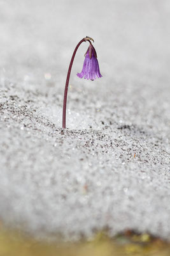
[[[76,51],[82,42],[88,41],[90,43],[90,45],[85,54],[85,61],[83,63],[83,69],[80,74],[79,73],[77,74],[77,76],[80,78],[85,77],[86,79],[90,79],[92,81],[94,79],[96,79],[97,77],[102,77],[100,70],[99,70],[99,63],[97,61],[96,50],[94,49],[94,46],[92,45],[90,40],[94,42],[94,40],[91,37],[86,36],[78,43],[78,45],[74,49],[71,61],[69,63],[69,69],[68,69],[67,78],[66,78],[66,86],[65,86],[65,90],[64,90],[64,100],[63,100],[63,109],[62,109],[62,128],[66,128],[67,91],[68,91],[68,86],[69,86],[69,77],[71,74],[71,68],[73,65],[74,57],[76,55]]]

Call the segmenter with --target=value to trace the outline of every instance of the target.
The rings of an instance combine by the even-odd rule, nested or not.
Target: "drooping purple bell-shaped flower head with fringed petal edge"
[[[80,78],[94,80],[97,77],[102,77],[99,70],[99,63],[97,61],[97,54],[94,46],[92,44],[89,45],[87,52],[85,53],[85,60],[83,63],[83,69],[81,73],[77,73],[77,76]]]

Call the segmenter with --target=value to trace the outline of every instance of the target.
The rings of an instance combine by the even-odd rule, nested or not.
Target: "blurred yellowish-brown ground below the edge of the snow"
[[[0,256],[169,256],[170,244],[148,234],[120,234],[110,239],[100,232],[92,241],[36,241],[20,232],[0,231]]]

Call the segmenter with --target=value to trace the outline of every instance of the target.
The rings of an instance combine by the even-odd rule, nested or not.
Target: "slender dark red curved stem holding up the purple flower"
[[[67,91],[68,91],[68,86],[69,86],[69,77],[70,77],[70,73],[71,73],[71,68],[73,65],[73,61],[74,61],[74,57],[76,55],[76,51],[78,49],[78,47],[80,46],[80,44],[82,42],[85,42],[85,38],[83,38],[78,45],[76,46],[76,48],[74,49],[71,61],[69,63],[69,69],[67,72],[67,78],[66,78],[66,86],[65,86],[65,90],[64,90],[64,100],[63,100],[63,109],[62,109],[62,128],[66,128],[66,104],[67,104]],[[87,40],[89,41],[89,40]]]

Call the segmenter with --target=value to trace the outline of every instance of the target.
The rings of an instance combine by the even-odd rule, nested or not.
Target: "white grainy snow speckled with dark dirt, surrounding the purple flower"
[[[170,239],[170,3],[0,1],[0,218],[36,237]],[[101,74],[71,72],[94,38]]]

